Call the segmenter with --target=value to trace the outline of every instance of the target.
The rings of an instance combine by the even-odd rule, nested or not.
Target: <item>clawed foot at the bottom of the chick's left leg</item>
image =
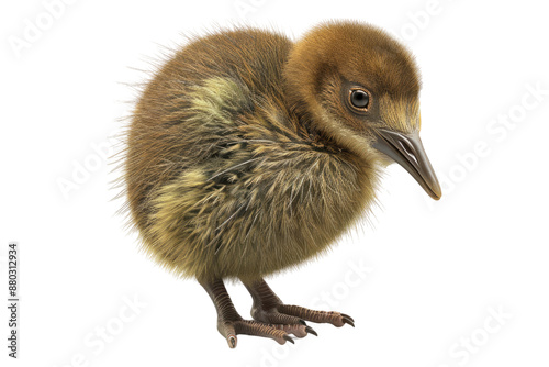
[[[255,320],[221,320],[217,323],[217,330],[225,336],[231,348],[236,347],[236,335],[240,334],[270,337],[279,344],[285,344],[285,342],[293,344],[293,338],[289,334],[298,337],[304,337],[307,333],[316,335],[316,332],[312,327],[303,324],[268,324]]]

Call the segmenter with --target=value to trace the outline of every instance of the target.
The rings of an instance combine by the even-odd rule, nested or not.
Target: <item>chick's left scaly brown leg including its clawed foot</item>
[[[280,327],[254,320],[244,320],[231,301],[231,297],[222,279],[200,281],[200,283],[204,287],[208,294],[210,294],[215,305],[215,310],[217,311],[217,330],[227,340],[231,348],[236,347],[236,335],[238,334],[270,337],[279,344],[284,344],[287,341],[293,343],[291,336]]]

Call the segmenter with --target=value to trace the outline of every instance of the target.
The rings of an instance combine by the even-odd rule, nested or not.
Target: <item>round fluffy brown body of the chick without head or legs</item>
[[[315,142],[285,104],[291,48],[266,31],[212,34],[144,90],[127,135],[127,203],[145,248],[176,273],[256,277],[299,264],[370,198],[367,168]]]

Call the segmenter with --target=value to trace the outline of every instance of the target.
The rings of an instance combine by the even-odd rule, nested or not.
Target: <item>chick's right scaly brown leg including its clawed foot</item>
[[[298,324],[305,325],[305,321],[316,323],[330,323],[340,327],[345,324],[355,326],[355,320],[345,313],[333,311],[314,311],[299,305],[284,304],[280,298],[270,289],[264,279],[245,282],[243,281],[254,299],[251,316],[261,322],[282,324],[283,330],[293,333]],[[305,321],[304,321],[305,320]],[[309,326],[306,326],[309,327]],[[309,327],[306,332],[315,334]],[[295,334],[295,333],[294,333]],[[296,336],[300,336],[295,334]]]

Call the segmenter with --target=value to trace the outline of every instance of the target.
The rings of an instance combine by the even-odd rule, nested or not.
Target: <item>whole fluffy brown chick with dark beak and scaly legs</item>
[[[305,321],[354,325],[283,303],[264,277],[325,252],[374,202],[391,162],[440,198],[418,93],[408,51],[358,22],[295,43],[250,27],[194,38],[147,84],[123,157],[131,222],[152,257],[204,287],[229,347],[237,334],[316,334]],[[254,320],[223,279],[246,286]]]

